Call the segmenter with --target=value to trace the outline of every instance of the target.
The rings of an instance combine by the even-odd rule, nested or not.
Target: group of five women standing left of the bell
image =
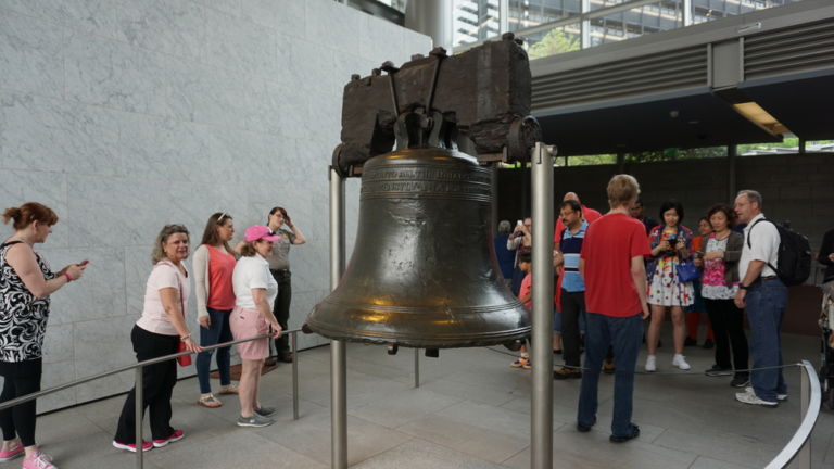
[[[50,295],[83,277],[88,262],[71,264],[53,271],[34,248],[47,241],[58,215],[49,207],[28,202],[3,212],[3,223],[13,221],[14,233],[0,244],[0,376],[3,390],[0,403],[40,390],[43,338],[50,315]],[[240,401],[238,426],[265,427],[276,409],[261,404],[261,369],[269,355],[267,337],[276,340],[276,358],[292,362],[286,342],[290,306],[290,244],[303,244],[304,234],[293,225],[286,210],[269,212],[268,226],[247,229],[243,241],[231,248],[235,236],[232,216],[217,212],[208,217],[200,245],[193,253],[192,269],[197,299],[200,344],[186,321],[192,279],[185,261],[191,254],[191,240],[182,225],[166,225],[153,244],[153,268],[146,283],[144,301],[131,332],[134,352],[142,362],[178,352],[197,353],[200,386],[198,404],[216,408],[223,403],[210,383],[211,357],[219,343],[247,340],[238,344],[241,378],[235,385],[230,372],[229,347],[217,352],[219,394],[237,394]],[[280,296],[280,289],[285,295]],[[172,427],[172,394],[177,382],[177,362],[188,365],[190,356],[144,366],[141,398],[148,410],[151,441],[136,444],[137,390],[128,392],[122,408],[113,446],[129,452],[166,446],[185,436]],[[0,462],[23,456],[24,469],[53,469],[51,458],[35,442],[36,401],[0,410],[3,443]]]

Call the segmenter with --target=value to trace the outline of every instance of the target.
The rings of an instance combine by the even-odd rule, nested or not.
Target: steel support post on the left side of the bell
[[[344,271],[344,178],[330,168],[330,289]],[[330,460],[348,468],[348,362],[345,343],[330,341]]]

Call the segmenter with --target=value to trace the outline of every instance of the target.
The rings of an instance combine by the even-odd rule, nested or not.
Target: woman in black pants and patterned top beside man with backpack
[[[729,205],[715,205],[707,216],[715,232],[704,246],[700,294],[716,334],[716,364],[706,375],[735,375],[730,384],[744,388],[749,381],[749,372],[741,371],[747,369],[747,337],[744,334],[744,312],[733,302],[738,291],[738,261],[742,257],[744,234],[732,231],[735,211]]]

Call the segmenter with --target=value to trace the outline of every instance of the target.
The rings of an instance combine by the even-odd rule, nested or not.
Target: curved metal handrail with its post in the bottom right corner
[[[803,360],[797,364],[805,370],[805,377],[803,379],[801,389],[801,403],[805,416],[799,424],[799,428],[794,433],[791,441],[787,442],[785,447],[774,457],[770,464],[766,466],[766,469],[782,469],[787,467],[800,453],[806,459],[806,464],[799,465],[799,467],[811,467],[810,459],[810,442],[811,432],[817,424],[817,418],[820,416],[820,404],[822,403],[822,394],[820,391],[820,380],[817,377],[817,370],[808,360]],[[810,389],[807,388],[806,379]],[[810,391],[810,392],[809,392]]]

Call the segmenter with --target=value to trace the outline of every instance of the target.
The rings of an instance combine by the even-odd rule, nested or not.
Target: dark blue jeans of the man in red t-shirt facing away
[[[634,395],[634,367],[643,339],[643,319],[640,314],[629,317],[611,317],[586,313],[585,369],[582,370],[582,388],[579,394],[577,421],[584,427],[596,423],[597,384],[603,359],[608,346],[614,347],[617,375],[614,378],[614,419],[611,434],[632,434],[632,401]]]

